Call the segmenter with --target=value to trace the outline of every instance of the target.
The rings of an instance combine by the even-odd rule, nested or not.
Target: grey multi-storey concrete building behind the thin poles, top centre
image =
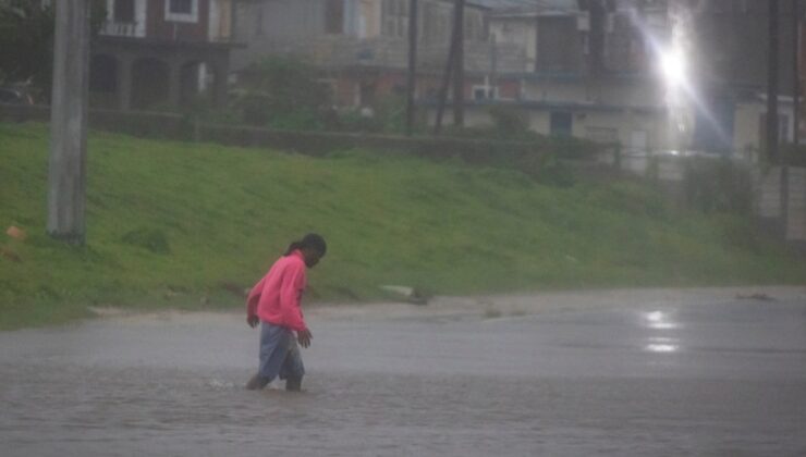
[[[237,72],[270,54],[296,54],[322,71],[340,106],[371,107],[405,90],[408,52],[408,0],[242,0],[235,10],[234,37],[246,44],[233,54]],[[515,97],[523,66],[521,46],[496,45],[488,34],[490,8],[465,8],[464,53],[467,97],[496,96],[490,81],[504,78],[501,96]],[[417,94],[436,98],[445,66],[453,2],[420,0]]]

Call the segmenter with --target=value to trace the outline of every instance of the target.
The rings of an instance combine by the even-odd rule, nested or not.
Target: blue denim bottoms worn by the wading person
[[[260,366],[257,370],[266,384],[281,380],[302,380],[305,367],[294,332],[268,322],[260,322]]]

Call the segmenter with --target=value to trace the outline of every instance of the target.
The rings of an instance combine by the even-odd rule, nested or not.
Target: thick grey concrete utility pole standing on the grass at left
[[[50,104],[48,234],[85,242],[89,1],[59,0],[56,7],[53,94]]]

